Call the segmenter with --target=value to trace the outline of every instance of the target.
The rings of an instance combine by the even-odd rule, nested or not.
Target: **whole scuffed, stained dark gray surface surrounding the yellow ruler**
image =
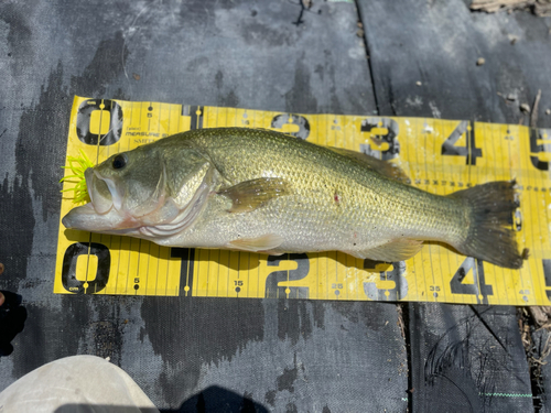
[[[361,0],[368,61],[355,4],[312,3],[0,4],[0,289],[29,312],[0,359],[0,389],[91,354],[166,411],[531,410],[530,398],[480,395],[531,391],[507,307],[485,325],[467,306],[409,304],[404,338],[392,304],[52,294],[74,95],[518,123],[541,88],[539,126],[550,126],[549,19]],[[430,355],[447,355],[440,370],[426,370]]]

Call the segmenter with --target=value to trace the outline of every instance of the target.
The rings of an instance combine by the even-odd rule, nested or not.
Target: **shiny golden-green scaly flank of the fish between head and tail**
[[[255,214],[231,216],[224,214],[222,205],[209,209],[197,222],[195,233],[190,235],[190,241],[198,244],[198,231],[235,236],[239,231],[248,238],[274,231],[284,235],[282,248],[288,250],[360,251],[387,243],[397,235],[440,240],[454,228],[456,232],[465,229],[452,225],[454,209],[460,209],[456,202],[392,182],[324,148],[249,129],[238,133],[234,129],[202,130],[186,135],[229,183],[282,177],[291,183],[293,193]],[[214,216],[219,219],[209,225]]]

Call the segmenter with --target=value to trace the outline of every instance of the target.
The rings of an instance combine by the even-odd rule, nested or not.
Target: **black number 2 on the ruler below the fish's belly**
[[[298,264],[296,270],[289,271],[273,271],[268,274],[266,279],[266,292],[264,296],[267,298],[281,298],[285,297],[285,290],[289,289],[289,298],[307,298],[309,287],[307,286],[280,286],[280,282],[285,281],[299,281],[307,276],[310,271],[310,260],[305,253],[285,253],[283,256],[270,256],[268,257],[268,265],[277,267],[281,261],[294,261]],[[288,278],[289,274],[289,278]]]

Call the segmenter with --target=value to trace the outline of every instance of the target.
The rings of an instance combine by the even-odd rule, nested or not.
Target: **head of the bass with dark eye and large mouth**
[[[144,145],[117,153],[87,169],[85,178],[90,203],[73,208],[63,218],[63,225],[71,229],[140,237],[155,226],[170,225],[185,215],[204,184],[204,176],[192,180],[190,175],[201,171],[205,175],[208,167],[197,167],[197,156],[179,153],[181,156],[176,159],[174,153],[166,152],[163,148]],[[206,163],[204,159],[203,163]],[[198,184],[193,185],[194,182]],[[205,196],[201,202],[205,202]]]

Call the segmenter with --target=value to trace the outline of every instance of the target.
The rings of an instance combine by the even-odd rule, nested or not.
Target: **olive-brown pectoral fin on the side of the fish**
[[[289,183],[279,177],[260,177],[241,182],[218,192],[218,195],[231,199],[230,213],[250,213],[270,199],[291,193]]]

